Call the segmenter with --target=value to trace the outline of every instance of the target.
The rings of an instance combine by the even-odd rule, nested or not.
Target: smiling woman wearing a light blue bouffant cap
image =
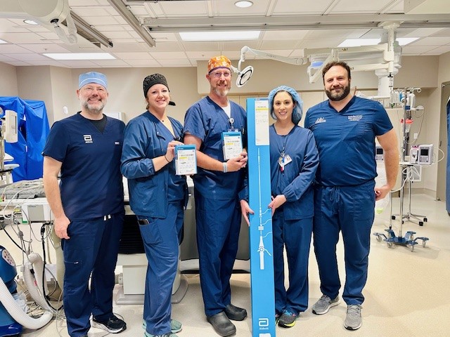
[[[274,237],[275,315],[278,325],[295,325],[308,308],[308,257],[311,244],[314,198],[312,184],[319,153],[312,132],[298,126],[302,99],[289,86],[269,93],[269,110],[275,123],[269,127],[271,194]],[[253,211],[240,201],[245,220]],[[289,288],[284,286],[283,248],[286,249]]]

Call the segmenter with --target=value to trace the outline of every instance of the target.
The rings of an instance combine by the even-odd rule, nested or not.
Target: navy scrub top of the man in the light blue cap
[[[86,220],[124,209],[120,156],[123,121],[106,117],[103,133],[75,114],[56,121],[42,154],[60,161],[60,193],[65,215]]]

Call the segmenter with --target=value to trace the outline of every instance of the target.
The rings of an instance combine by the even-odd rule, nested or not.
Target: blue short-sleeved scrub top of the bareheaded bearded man
[[[377,176],[375,136],[392,129],[380,103],[354,96],[338,112],[326,100],[308,110],[304,126],[314,133],[319,150],[316,183],[360,185]]]

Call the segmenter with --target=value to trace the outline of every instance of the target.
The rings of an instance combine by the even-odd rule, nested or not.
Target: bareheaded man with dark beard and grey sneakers
[[[397,179],[397,136],[380,103],[350,93],[347,63],[328,63],[322,78],[328,100],[311,107],[304,121],[314,133],[320,158],[313,234],[323,295],[312,312],[325,314],[340,302],[336,244],[342,232],[346,274],[342,298],[347,303],[344,326],[356,330],[362,324],[362,291],[368,274],[375,200],[386,197]],[[375,187],[375,138],[385,154],[387,183],[380,187]]]

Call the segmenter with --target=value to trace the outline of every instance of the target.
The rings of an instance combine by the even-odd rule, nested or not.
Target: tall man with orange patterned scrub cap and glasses
[[[220,336],[236,333],[230,322],[243,320],[247,311],[231,304],[230,277],[238,251],[240,206],[247,152],[224,159],[223,133],[240,133],[244,140],[246,113],[227,98],[231,88],[231,61],[211,58],[206,79],[210,93],[189,107],[184,119],[184,143],[197,148],[198,173],[193,176],[195,220],[200,260],[200,286],[207,321]]]

